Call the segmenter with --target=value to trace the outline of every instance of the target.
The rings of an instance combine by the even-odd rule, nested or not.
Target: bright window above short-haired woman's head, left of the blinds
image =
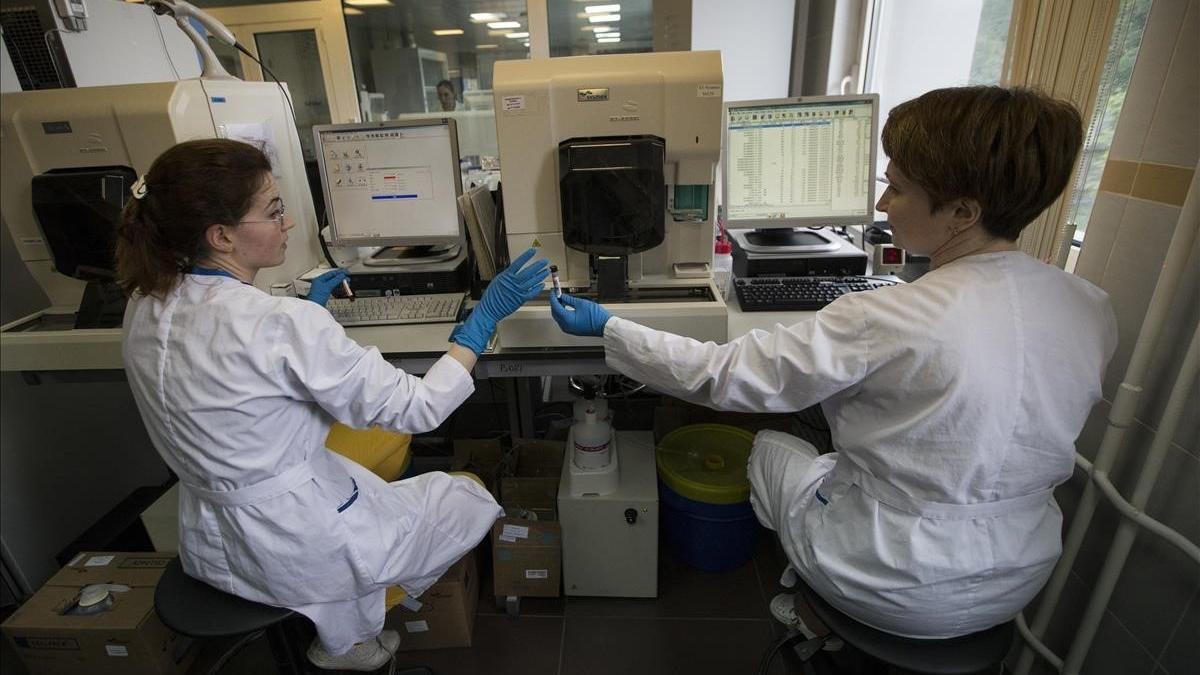
[[[876,0],[863,91],[880,95],[880,127],[931,89],[998,83],[1012,14],[1013,0]],[[882,178],[882,145],[877,156]]]

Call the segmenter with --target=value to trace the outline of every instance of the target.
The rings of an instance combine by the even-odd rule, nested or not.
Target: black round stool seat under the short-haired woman
[[[833,634],[854,649],[890,665],[932,675],[960,675],[979,673],[994,668],[1013,645],[1013,622],[1001,623],[986,631],[948,638],[944,640],[918,640],[901,638],[876,631],[834,609],[804,583],[800,595]]]

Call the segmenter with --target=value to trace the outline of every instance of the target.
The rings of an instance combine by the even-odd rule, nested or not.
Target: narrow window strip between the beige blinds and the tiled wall
[[[1087,221],[1096,204],[1096,195],[1100,187],[1100,175],[1112,147],[1112,133],[1124,106],[1126,91],[1133,74],[1134,61],[1141,46],[1141,34],[1146,30],[1146,17],[1150,14],[1152,0],[1122,0],[1121,8],[1112,26],[1112,38],[1109,42],[1109,54],[1104,60],[1099,90],[1096,94],[1096,108],[1092,110],[1087,126],[1087,137],[1080,157],[1079,174],[1070,196],[1067,222],[1074,225],[1075,237],[1072,252],[1067,259],[1067,271],[1075,268],[1075,257]]]

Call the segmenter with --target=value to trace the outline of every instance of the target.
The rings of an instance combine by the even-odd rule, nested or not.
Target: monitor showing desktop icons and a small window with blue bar
[[[463,240],[454,120],[318,125],[313,136],[336,245]]]

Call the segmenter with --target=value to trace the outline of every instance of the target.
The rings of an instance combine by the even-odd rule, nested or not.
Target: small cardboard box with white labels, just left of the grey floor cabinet
[[[541,520],[497,520],[492,575],[497,596],[557,598],[563,586],[563,527]]]

